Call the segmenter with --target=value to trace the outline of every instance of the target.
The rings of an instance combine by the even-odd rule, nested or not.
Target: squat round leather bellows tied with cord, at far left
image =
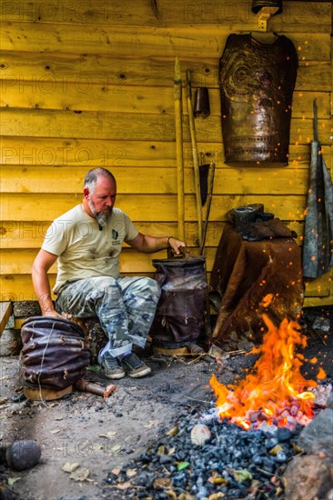
[[[84,375],[90,352],[81,326],[65,318],[34,316],[22,325],[21,336],[25,385],[60,390]]]

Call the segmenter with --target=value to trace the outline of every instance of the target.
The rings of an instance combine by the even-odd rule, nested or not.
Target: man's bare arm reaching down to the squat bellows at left
[[[62,317],[55,311],[51,298],[50,282],[47,276],[47,271],[51,265],[55,264],[56,259],[57,255],[50,254],[43,249],[39,250],[31,269],[31,275],[33,278],[35,295],[42,309],[42,314],[44,316]]]

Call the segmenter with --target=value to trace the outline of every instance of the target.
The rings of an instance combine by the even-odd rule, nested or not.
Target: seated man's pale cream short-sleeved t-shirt
[[[138,235],[128,215],[114,208],[106,226],[100,229],[96,219],[82,205],[56,218],[47,229],[43,250],[58,255],[55,294],[67,280],[94,276],[119,277],[119,254],[123,242]]]

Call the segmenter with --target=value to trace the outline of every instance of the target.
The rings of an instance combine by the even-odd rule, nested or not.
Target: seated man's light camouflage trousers
[[[108,276],[67,282],[56,299],[57,310],[76,317],[97,316],[108,342],[100,352],[113,356],[144,347],[161,290],[149,277]]]

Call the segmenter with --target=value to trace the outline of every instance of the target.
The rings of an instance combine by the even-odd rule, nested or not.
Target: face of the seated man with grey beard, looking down
[[[88,192],[86,199],[98,224],[104,227],[112,215],[116,202],[116,183],[104,175],[99,176],[95,191],[93,194]]]

